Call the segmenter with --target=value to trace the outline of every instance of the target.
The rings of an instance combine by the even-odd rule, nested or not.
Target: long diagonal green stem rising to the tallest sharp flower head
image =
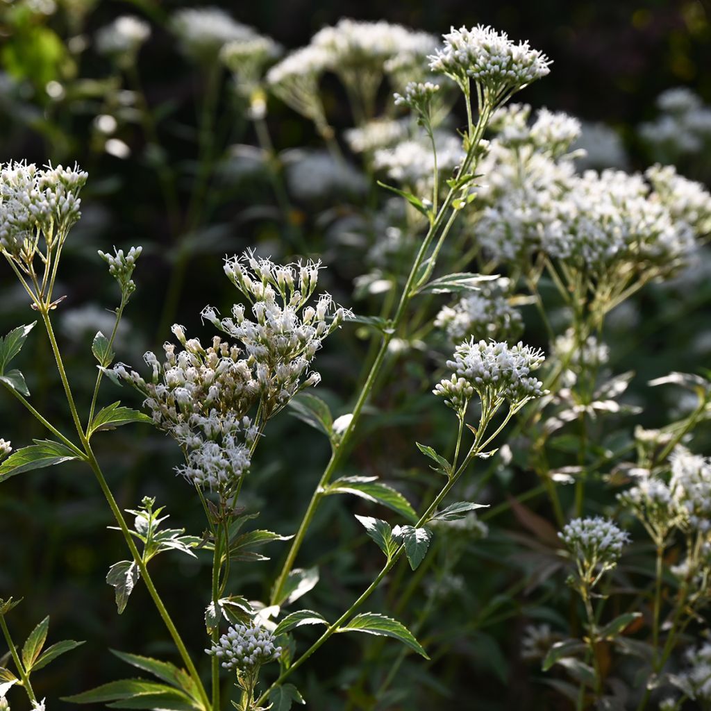
[[[481,137],[483,135],[484,129],[486,128],[489,114],[490,112],[485,110],[479,119],[479,123],[476,124],[476,131],[474,132],[474,137],[471,138],[469,151],[461,166],[461,175],[465,175],[471,167],[471,163],[474,160],[474,153],[476,152],[476,146],[478,146],[479,141],[481,140]],[[432,244],[432,241],[434,240],[435,235],[437,235],[439,228],[441,228],[442,225],[445,223],[445,216],[449,212],[449,208],[451,207],[451,203],[454,201],[454,196],[457,192],[458,191],[454,188],[450,188],[449,193],[447,193],[447,198],[445,198],[444,203],[442,203],[442,208],[440,208],[437,217],[432,220],[432,223],[429,226],[429,230],[427,230],[427,235],[425,235],[424,240],[422,240],[422,245],[420,245],[419,251],[417,252],[417,257],[415,257],[415,262],[412,264],[410,274],[407,277],[407,282],[405,282],[405,287],[402,289],[402,294],[400,295],[400,303],[397,305],[395,316],[392,319],[391,328],[388,329],[387,333],[383,334],[383,341],[380,344],[380,350],[378,351],[378,355],[375,356],[373,365],[370,367],[370,372],[368,373],[368,378],[366,378],[365,384],[363,385],[362,390],[360,390],[360,395],[358,395],[358,400],[355,402],[355,406],[353,407],[353,417],[351,418],[351,422],[348,423],[348,427],[346,427],[346,430],[343,432],[341,442],[339,442],[338,445],[333,448],[333,451],[331,453],[331,459],[328,460],[326,469],[321,475],[321,479],[319,480],[319,483],[316,486],[313,495],[311,496],[311,501],[309,501],[309,506],[308,508],[306,508],[304,518],[301,519],[299,530],[296,532],[296,536],[294,537],[292,546],[289,548],[289,553],[287,554],[287,559],[284,562],[282,571],[279,573],[279,577],[277,578],[277,581],[274,584],[272,604],[276,604],[277,599],[279,599],[280,595],[282,594],[284,584],[286,584],[287,578],[289,577],[289,572],[291,572],[292,567],[294,566],[296,555],[298,554],[299,549],[301,548],[302,542],[304,542],[306,530],[308,530],[309,525],[311,525],[311,521],[313,520],[314,514],[316,513],[316,508],[318,508],[319,502],[321,501],[322,496],[324,496],[324,488],[328,485],[328,482],[331,481],[331,476],[333,476],[333,473],[338,468],[338,464],[340,464],[341,458],[343,457],[343,452],[346,450],[348,442],[351,441],[351,437],[353,437],[353,433],[355,432],[355,427],[360,419],[360,414],[363,410],[363,406],[368,401],[368,398],[371,395],[371,391],[375,386],[375,381],[377,380],[378,374],[380,373],[380,368],[385,362],[385,356],[387,355],[388,346],[390,346],[390,341],[392,341],[392,338],[395,336],[395,333],[397,333],[398,328],[400,328],[400,325],[402,324],[402,321],[405,317],[405,313],[407,311],[407,306],[410,304],[410,299],[412,299],[412,296],[414,296],[412,291],[413,287],[415,286],[416,280],[419,279],[418,274],[420,265],[422,264],[422,262],[424,262],[424,257],[425,255],[427,255],[427,250],[429,250],[429,245]],[[456,212],[457,210],[454,210],[453,215],[456,215]],[[451,227],[451,223],[452,220],[450,218],[449,220],[447,220],[447,231],[449,230],[449,227]]]

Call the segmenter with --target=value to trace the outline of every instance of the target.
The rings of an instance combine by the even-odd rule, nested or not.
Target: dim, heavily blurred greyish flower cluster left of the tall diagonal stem
[[[363,174],[351,164],[336,161],[328,151],[294,151],[284,162],[289,192],[299,200],[317,201],[365,191]]]

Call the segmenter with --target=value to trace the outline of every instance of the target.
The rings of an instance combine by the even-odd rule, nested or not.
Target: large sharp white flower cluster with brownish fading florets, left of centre
[[[146,396],[154,424],[171,435],[186,454],[178,473],[227,498],[250,466],[251,450],[267,420],[299,390],[319,383],[308,373],[322,341],[348,315],[328,294],[309,305],[318,282],[319,264],[277,266],[251,252],[225,262],[225,272],[245,295],[247,308],[235,304],[232,317],[220,320],[215,309],[203,316],[237,338],[241,347],[213,337],[204,348],[186,338],[182,326],[173,334],[183,350],[166,343],[166,360],[154,353],[145,360],[150,382],[122,365],[114,373]],[[330,319],[330,321],[329,321]],[[257,408],[254,419],[250,417]]]

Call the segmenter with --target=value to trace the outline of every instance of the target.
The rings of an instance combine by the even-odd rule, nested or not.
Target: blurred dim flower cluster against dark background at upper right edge
[[[685,87],[669,89],[659,95],[661,116],[640,125],[641,139],[656,160],[678,163],[711,145],[711,107]]]

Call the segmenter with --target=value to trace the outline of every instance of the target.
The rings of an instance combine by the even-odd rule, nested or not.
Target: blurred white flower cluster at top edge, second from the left
[[[235,21],[218,7],[183,8],[173,13],[171,29],[188,57],[198,61],[215,60],[220,50],[232,41],[247,41],[255,31]]]

